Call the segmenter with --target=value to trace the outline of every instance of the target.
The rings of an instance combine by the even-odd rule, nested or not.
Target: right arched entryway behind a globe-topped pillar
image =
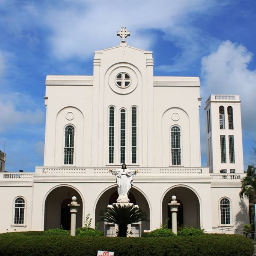
[[[188,187],[174,187],[166,192],[162,200],[162,225],[168,220],[168,228],[171,228],[171,213],[168,203],[171,202],[172,196],[177,197],[178,207],[177,224],[178,226],[188,226],[200,228],[200,203],[197,195]]]

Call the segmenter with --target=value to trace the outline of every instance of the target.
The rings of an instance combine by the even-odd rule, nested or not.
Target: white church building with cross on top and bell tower
[[[139,170],[130,202],[147,214],[142,230],[170,218],[207,232],[235,232],[249,223],[248,201],[239,198],[244,177],[240,99],[210,95],[206,101],[207,164],[201,166],[198,77],[154,76],[153,53],[127,46],[97,50],[93,76],[46,77],[44,165],[33,173],[0,172],[0,233],[68,229],[68,204],[87,214],[116,201],[109,169]],[[170,226],[170,221],[169,221]],[[100,223],[104,229],[104,223]]]

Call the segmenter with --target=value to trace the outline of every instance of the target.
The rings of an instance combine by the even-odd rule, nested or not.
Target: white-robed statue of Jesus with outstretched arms
[[[136,175],[138,170],[126,169],[126,164],[122,164],[122,169],[109,170],[112,174],[116,175],[118,203],[129,203],[128,194],[133,185],[133,175]]]

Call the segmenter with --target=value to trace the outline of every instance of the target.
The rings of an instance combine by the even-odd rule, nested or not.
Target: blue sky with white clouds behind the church
[[[92,75],[94,50],[119,44],[153,50],[154,75],[201,79],[204,102],[239,94],[245,167],[256,140],[256,1],[0,0],[0,150],[6,170],[43,164],[45,77]]]

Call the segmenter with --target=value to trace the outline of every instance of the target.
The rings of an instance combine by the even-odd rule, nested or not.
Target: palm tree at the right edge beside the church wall
[[[256,193],[256,167],[254,165],[248,165],[248,169],[246,171],[246,176],[242,178],[242,186],[241,191],[239,193],[240,198],[247,197],[252,194],[252,192]]]

